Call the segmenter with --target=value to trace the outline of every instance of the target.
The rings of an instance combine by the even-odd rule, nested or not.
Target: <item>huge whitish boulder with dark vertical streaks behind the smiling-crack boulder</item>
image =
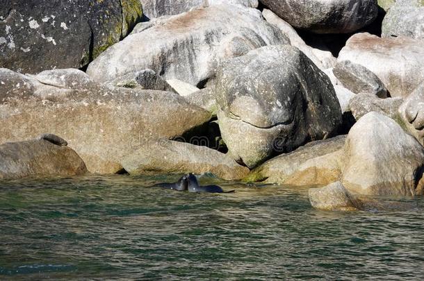
[[[89,65],[87,73],[105,82],[152,69],[166,80],[197,85],[215,75],[221,60],[289,42],[259,10],[242,6],[198,8],[159,22],[113,45]]]

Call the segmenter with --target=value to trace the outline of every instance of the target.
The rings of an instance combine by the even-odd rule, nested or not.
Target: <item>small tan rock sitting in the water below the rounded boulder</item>
[[[325,211],[354,211],[357,201],[341,182],[333,182],[326,187],[309,189],[309,202],[312,207]]]

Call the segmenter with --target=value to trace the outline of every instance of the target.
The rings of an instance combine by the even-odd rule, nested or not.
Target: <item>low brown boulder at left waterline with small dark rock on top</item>
[[[71,148],[45,139],[0,145],[0,178],[78,176],[88,173]]]

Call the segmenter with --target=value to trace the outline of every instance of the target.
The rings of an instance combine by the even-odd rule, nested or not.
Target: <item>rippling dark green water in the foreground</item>
[[[0,182],[0,280],[423,276],[423,198],[402,212],[320,212],[307,189],[221,183],[237,192],[216,195],[146,187],[172,179]]]

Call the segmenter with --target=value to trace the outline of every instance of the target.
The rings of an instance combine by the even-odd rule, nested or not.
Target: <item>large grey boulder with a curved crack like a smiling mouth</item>
[[[294,46],[265,46],[228,60],[216,81],[222,139],[247,167],[329,137],[341,124],[329,78]]]

